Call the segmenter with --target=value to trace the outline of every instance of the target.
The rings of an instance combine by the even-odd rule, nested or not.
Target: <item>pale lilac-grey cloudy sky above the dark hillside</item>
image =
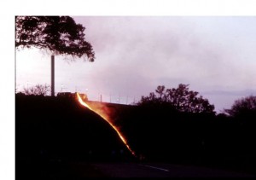
[[[96,61],[55,56],[55,92],[130,104],[158,85],[189,84],[221,112],[256,96],[255,16],[73,16]],[[50,54],[15,54],[16,88],[50,84]]]

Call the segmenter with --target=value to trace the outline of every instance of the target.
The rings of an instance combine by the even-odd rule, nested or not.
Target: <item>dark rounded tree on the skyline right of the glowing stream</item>
[[[137,105],[169,104],[179,112],[186,113],[214,113],[214,106],[198,96],[198,92],[189,90],[188,84],[179,84],[177,88],[166,89],[164,85],[158,86],[149,96],[142,96]]]

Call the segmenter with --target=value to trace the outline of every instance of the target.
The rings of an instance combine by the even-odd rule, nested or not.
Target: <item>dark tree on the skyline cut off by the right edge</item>
[[[247,96],[234,102],[230,109],[224,109],[230,116],[250,116],[256,114],[256,96]]]

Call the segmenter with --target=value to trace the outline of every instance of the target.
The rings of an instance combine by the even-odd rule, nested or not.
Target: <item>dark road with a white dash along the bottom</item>
[[[35,171],[34,171],[35,172]],[[189,165],[163,163],[84,163],[55,162],[33,174],[27,170],[24,179],[86,179],[90,177],[256,177],[242,172],[224,171]],[[28,178],[26,178],[28,177]]]

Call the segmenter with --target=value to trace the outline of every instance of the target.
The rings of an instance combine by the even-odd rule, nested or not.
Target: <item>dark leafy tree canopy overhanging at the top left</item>
[[[49,49],[58,55],[81,57],[94,61],[95,53],[85,41],[85,27],[69,16],[16,16],[16,48]]]

